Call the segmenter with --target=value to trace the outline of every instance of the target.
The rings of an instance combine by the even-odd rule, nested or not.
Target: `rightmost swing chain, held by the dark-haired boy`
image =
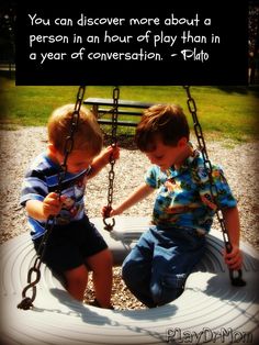
[[[226,224],[223,218],[223,213],[222,210],[218,205],[218,190],[217,190],[217,186],[214,183],[213,181],[213,169],[212,169],[212,164],[211,160],[209,159],[209,155],[207,155],[207,151],[206,151],[206,144],[205,144],[205,140],[202,133],[202,127],[201,124],[199,122],[198,119],[198,114],[196,114],[196,103],[194,101],[194,99],[191,96],[191,91],[190,91],[190,86],[183,86],[183,88],[185,89],[187,92],[187,97],[188,97],[188,108],[190,113],[192,114],[192,120],[193,120],[193,124],[194,124],[194,132],[196,135],[196,140],[198,140],[198,144],[199,144],[199,148],[202,153],[202,157],[203,157],[203,164],[204,164],[204,168],[205,171],[207,172],[209,176],[209,181],[210,181],[210,192],[211,192],[211,200],[212,202],[214,202],[216,204],[216,216],[218,220],[218,223],[221,225],[222,229],[222,234],[223,234],[223,240],[224,240],[224,244],[225,244],[225,248],[227,253],[232,252],[232,244],[229,241],[229,235],[228,235],[228,231],[226,229]],[[230,281],[233,286],[238,286],[238,287],[243,287],[246,285],[246,282],[243,280],[243,272],[241,269],[237,270],[237,276],[235,276],[234,270],[229,269],[229,277],[230,277]]]

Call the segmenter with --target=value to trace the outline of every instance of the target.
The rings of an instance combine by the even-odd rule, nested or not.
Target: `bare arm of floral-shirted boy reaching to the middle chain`
[[[154,191],[154,188],[150,186],[143,183],[140,185],[132,194],[130,194],[120,205],[115,207],[111,210],[110,216],[121,214],[126,209],[130,209],[135,203],[142,201],[143,199],[147,198],[151,192]],[[106,207],[102,209],[102,214],[105,216],[108,212]]]

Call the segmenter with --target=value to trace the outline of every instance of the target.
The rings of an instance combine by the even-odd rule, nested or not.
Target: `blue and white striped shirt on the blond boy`
[[[61,194],[66,197],[61,211],[55,218],[55,224],[66,225],[78,221],[85,215],[83,196],[87,176],[90,167],[79,174],[67,172],[61,182]],[[43,201],[45,197],[58,189],[58,174],[60,166],[54,163],[46,154],[37,156],[29,168],[21,192],[21,204],[25,205],[27,200]],[[32,238],[42,236],[45,232],[45,222],[29,216],[29,226]]]

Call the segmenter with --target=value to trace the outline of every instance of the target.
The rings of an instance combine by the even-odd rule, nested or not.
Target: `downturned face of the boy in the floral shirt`
[[[145,152],[145,155],[151,164],[159,166],[161,170],[167,170],[171,166],[177,168],[183,163],[187,157],[185,148],[185,138],[181,138],[176,146],[165,145],[160,138],[157,138],[155,149]]]

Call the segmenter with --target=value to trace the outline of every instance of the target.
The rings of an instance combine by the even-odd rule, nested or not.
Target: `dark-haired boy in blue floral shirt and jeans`
[[[193,266],[202,258],[216,207],[210,198],[210,180],[201,153],[189,142],[190,130],[177,105],[154,105],[144,112],[136,129],[136,144],[153,166],[145,182],[110,215],[122,213],[155,189],[149,230],[123,263],[123,279],[147,307],[162,305],[183,291]],[[223,170],[213,165],[218,204],[233,249],[225,253],[230,269],[239,269],[239,216]],[[106,209],[103,209],[105,212]]]

